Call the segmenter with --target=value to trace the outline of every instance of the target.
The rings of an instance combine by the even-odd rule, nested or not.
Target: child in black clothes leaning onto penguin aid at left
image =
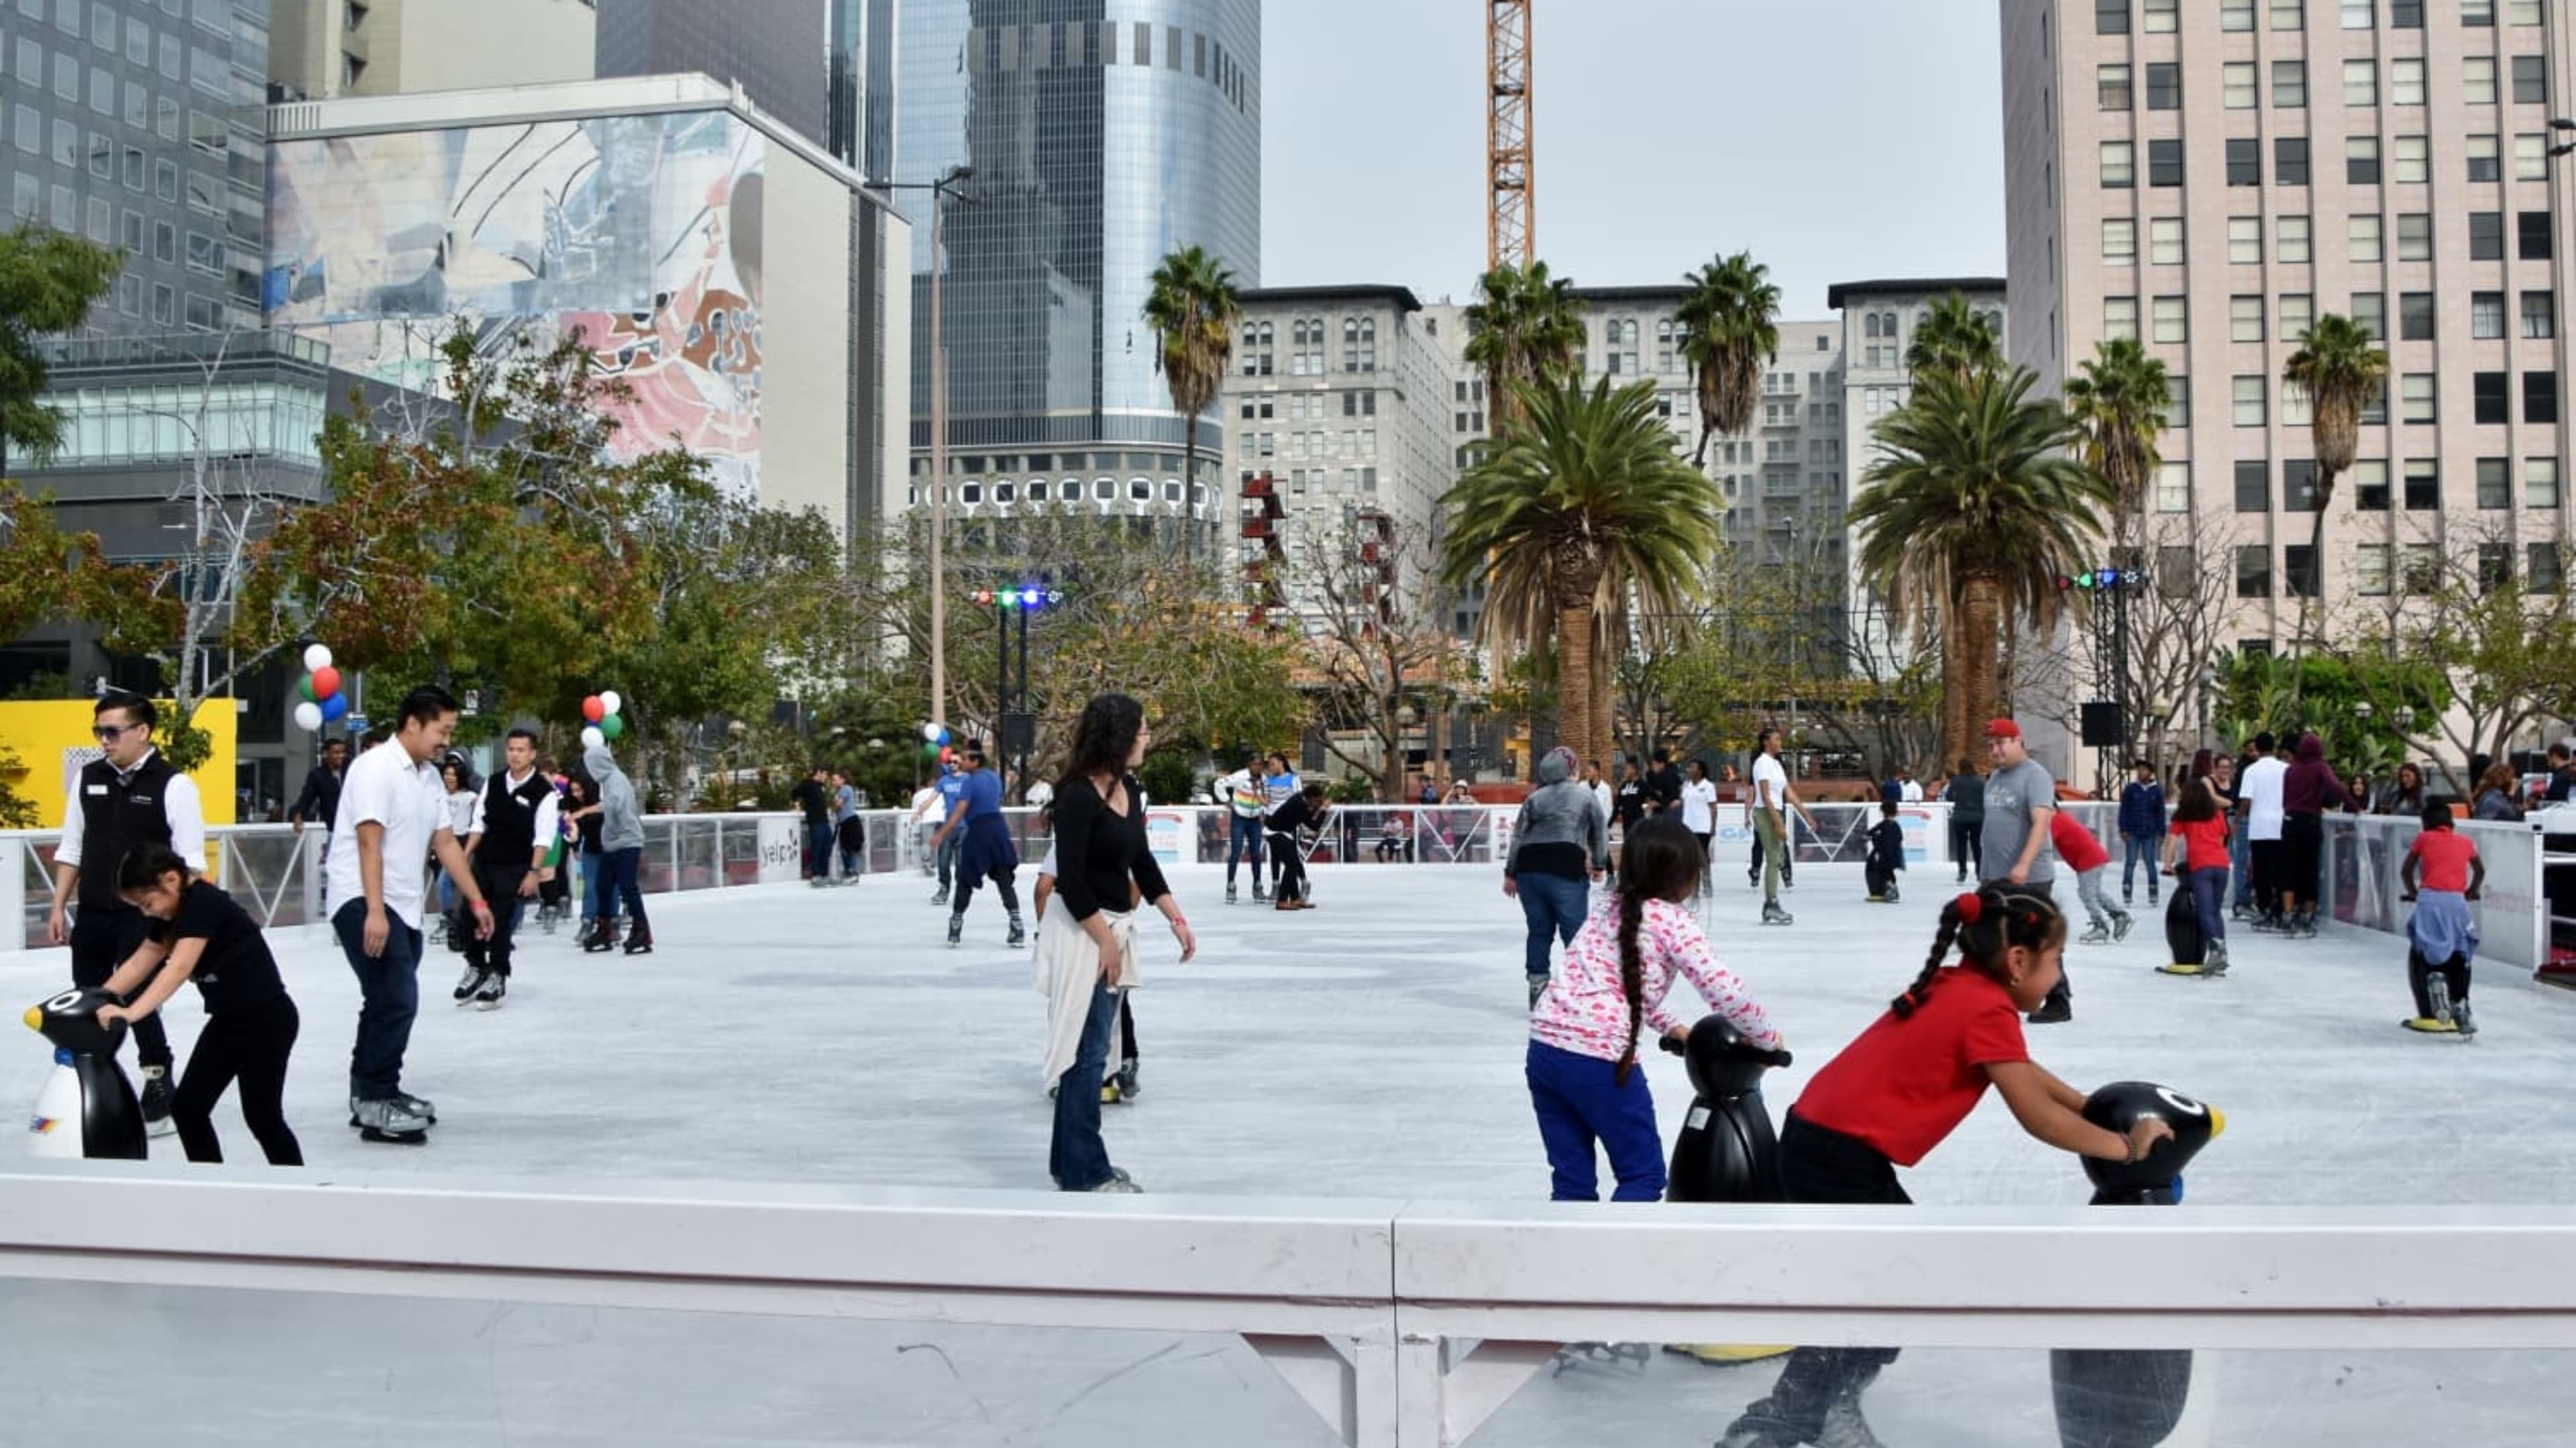
[[[214,1103],[240,1077],[242,1121],[260,1139],[268,1165],[301,1167],[304,1147],[289,1131],[283,1108],[286,1056],[296,1049],[301,1020],[260,925],[167,845],[131,850],[116,868],[116,891],[155,925],[108,976],[108,989],[131,997],[131,1005],[100,1005],[98,1023],[142,1020],[191,979],[206,1005],[206,1025],[196,1033],[188,1069],[170,1100],[170,1121],[178,1123],[188,1159],[224,1159],[214,1141]],[[142,995],[134,995],[137,987]]]

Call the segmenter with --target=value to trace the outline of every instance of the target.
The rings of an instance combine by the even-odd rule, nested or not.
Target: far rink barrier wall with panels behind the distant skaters
[[[2087,830],[2112,853],[2120,868],[2117,806],[2110,801],[2066,801]],[[1852,863],[1868,858],[1868,832],[1878,822],[1875,804],[1811,804],[1816,824],[1790,819],[1790,840],[1801,866]],[[1046,830],[1036,809],[1005,812],[1020,855],[1036,866],[1046,853]],[[1324,830],[1303,843],[1311,866],[1497,866],[1512,848],[1515,806],[1448,804],[1345,804],[1334,806]],[[868,873],[917,871],[925,861],[927,824],[907,822],[904,812],[863,812],[868,827]],[[1935,881],[1950,858],[1950,806],[1906,804],[1906,861]],[[2478,843],[2486,858],[2486,897],[2470,910],[2483,938],[2481,956],[2496,964],[2535,969],[2548,958],[2550,907],[2543,894],[2540,822],[2463,822],[2460,832]],[[2324,917],[2360,930],[2401,935],[2406,904],[2398,899],[2398,866],[2421,824],[2398,817],[2326,817]],[[15,948],[46,948],[44,917],[54,899],[52,830],[0,832],[0,920],[23,922]],[[216,884],[232,891],[265,928],[314,925],[322,912],[322,830],[296,835],[286,824],[219,824],[206,830],[209,866]],[[1226,812],[1216,806],[1151,806],[1146,840],[1164,863],[1224,863]],[[1721,804],[1710,837],[1716,866],[1752,861],[1752,827],[1744,804]],[[793,884],[804,866],[804,824],[796,814],[647,814],[644,871],[647,894],[729,889],[744,884]],[[835,861],[837,868],[837,861]],[[2566,863],[2561,863],[2566,868]],[[5,948],[0,948],[5,953]]]

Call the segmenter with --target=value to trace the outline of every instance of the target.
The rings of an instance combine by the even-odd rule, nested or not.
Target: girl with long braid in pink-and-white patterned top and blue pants
[[[1620,889],[1592,907],[1530,1007],[1530,1105],[1553,1170],[1553,1201],[1600,1201],[1595,1141],[1618,1175],[1610,1201],[1664,1196],[1664,1134],[1654,1126],[1646,1074],[1636,1069],[1636,1043],[1643,1023],[1662,1036],[1690,1036],[1690,1020],[1664,1005],[1674,971],[1690,976],[1700,1000],[1747,1041],[1780,1046],[1770,1015],[1718,964],[1690,910],[1705,863],[1680,814],[1631,824]]]

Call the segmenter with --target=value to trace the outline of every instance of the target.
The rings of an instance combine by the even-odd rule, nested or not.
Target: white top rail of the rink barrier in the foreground
[[[23,1162],[0,1281],[1229,1332],[1352,1448],[1455,1448],[1564,1342],[2576,1348],[2576,1224],[2545,1206],[1605,1211]]]

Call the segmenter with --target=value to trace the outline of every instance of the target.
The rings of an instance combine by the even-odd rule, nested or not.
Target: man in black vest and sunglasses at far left
[[[106,757],[80,770],[62,812],[62,848],[54,850],[54,910],[46,935],[72,946],[72,984],[106,984],[144,943],[142,910],[116,894],[116,866],[139,845],[167,845],[188,868],[206,868],[206,806],[196,781],[170,768],[152,747],[160,711],[149,698],[106,693],[90,714],[93,734]],[[64,907],[80,910],[64,928]],[[170,1123],[170,1036],[160,1015],[134,1023],[134,1051],[144,1067],[144,1129],[155,1136]]]

